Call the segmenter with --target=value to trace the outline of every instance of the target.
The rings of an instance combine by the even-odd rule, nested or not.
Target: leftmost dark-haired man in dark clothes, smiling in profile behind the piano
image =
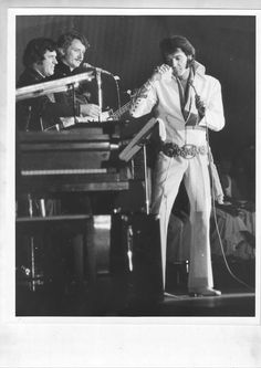
[[[56,44],[45,38],[31,40],[23,54],[25,66],[17,87],[48,82],[58,64]],[[65,75],[66,76],[66,75]],[[58,96],[58,98],[56,98]],[[60,117],[86,115],[84,107],[66,93],[46,94],[17,103],[17,125],[19,130],[46,130],[61,126]],[[88,112],[87,112],[88,113]]]

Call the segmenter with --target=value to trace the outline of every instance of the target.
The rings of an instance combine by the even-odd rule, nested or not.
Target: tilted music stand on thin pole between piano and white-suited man
[[[138,134],[129,141],[129,144],[118,155],[121,160],[127,162],[143,148],[146,214],[149,214],[146,144],[148,141],[148,136],[153,132],[156,124],[158,124],[158,120],[155,117],[150,118],[148,123],[145,124],[145,126],[138,132]]]

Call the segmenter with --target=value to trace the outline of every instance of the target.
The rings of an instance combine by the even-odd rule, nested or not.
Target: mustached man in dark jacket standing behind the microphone
[[[88,49],[90,43],[83,34],[76,31],[61,34],[58,39],[58,65],[55,65],[52,78],[56,80],[98,70],[86,63],[85,56]],[[106,119],[108,117],[107,111],[115,111],[119,107],[117,86],[113,74],[104,70],[101,71],[101,96],[98,95],[96,78],[87,83],[81,82],[75,91],[75,99],[80,103],[80,115],[88,116],[94,120],[98,118]],[[66,96],[71,98],[71,95],[72,92],[67,92],[66,94],[55,95],[55,98],[62,102]],[[102,115],[100,115],[101,109]]]

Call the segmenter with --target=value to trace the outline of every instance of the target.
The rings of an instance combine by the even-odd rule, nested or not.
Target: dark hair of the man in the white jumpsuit
[[[166,55],[174,53],[177,49],[181,49],[187,56],[191,55],[195,57],[196,53],[191,43],[182,35],[173,35],[161,40],[159,48],[164,59]]]

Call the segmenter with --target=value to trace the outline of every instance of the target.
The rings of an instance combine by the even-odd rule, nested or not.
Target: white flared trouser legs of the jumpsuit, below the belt
[[[154,172],[152,212],[159,215],[164,288],[168,221],[182,178],[190,203],[188,288],[212,287],[209,241],[211,196],[208,156],[197,155],[191,159],[170,158],[160,151]]]

